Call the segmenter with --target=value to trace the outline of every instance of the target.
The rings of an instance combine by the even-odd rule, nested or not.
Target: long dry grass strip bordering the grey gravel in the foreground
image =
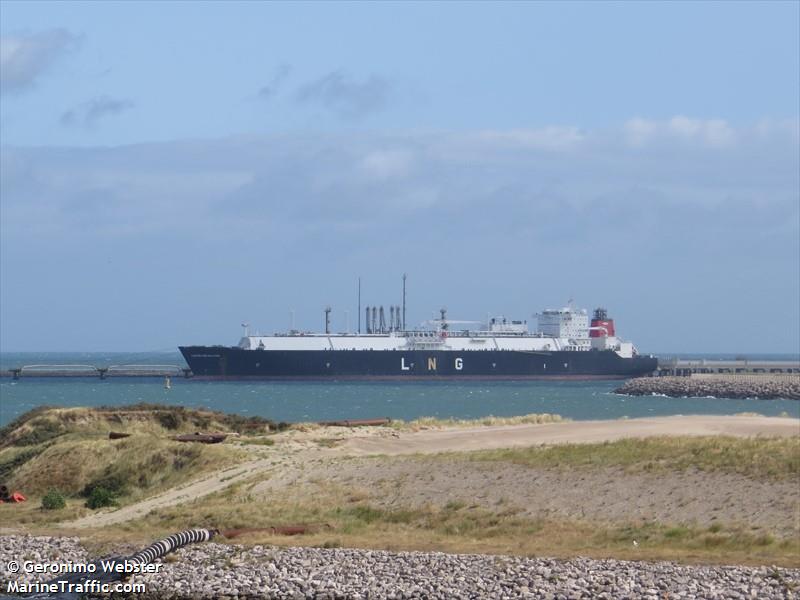
[[[188,505],[159,510],[141,523],[96,532],[95,539],[145,541],[185,527],[270,527],[313,525],[298,537],[252,533],[236,543],[358,547],[386,550],[497,553],[526,556],[591,556],[689,563],[800,566],[796,539],[780,540],[742,527],[673,527],[650,522],[587,523],[536,519],[516,509],[477,507],[469,500],[444,506],[380,508],[363,495],[327,484],[313,497],[293,492],[254,498],[255,484],[232,486]],[[635,546],[634,540],[637,542]]]

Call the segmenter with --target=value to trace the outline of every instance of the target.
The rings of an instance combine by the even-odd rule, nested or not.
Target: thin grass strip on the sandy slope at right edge
[[[800,437],[661,436],[598,444],[479,450],[458,456],[541,468],[621,467],[628,472],[698,469],[756,479],[800,478]]]

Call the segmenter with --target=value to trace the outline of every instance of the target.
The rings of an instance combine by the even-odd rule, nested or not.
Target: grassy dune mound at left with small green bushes
[[[0,526],[50,523],[83,514],[80,496],[96,486],[113,492],[119,504],[135,502],[243,456],[230,444],[169,439],[200,425],[220,428],[226,423],[216,413],[163,407],[43,409],[23,415],[3,428],[0,480],[25,494],[28,502],[3,506]],[[110,440],[110,430],[131,437]],[[40,509],[41,497],[50,489],[70,498],[66,508]]]

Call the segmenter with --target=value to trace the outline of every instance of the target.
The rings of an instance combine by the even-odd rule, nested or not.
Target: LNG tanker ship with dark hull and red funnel
[[[359,311],[360,312],[360,311]],[[244,336],[237,346],[181,346],[195,377],[207,379],[616,379],[656,370],[657,359],[640,355],[616,336],[605,309],[571,305],[527,321],[488,318],[483,327],[441,317],[415,330],[404,326],[400,307],[367,307],[366,333],[290,330]],[[360,330],[360,322],[359,322]]]

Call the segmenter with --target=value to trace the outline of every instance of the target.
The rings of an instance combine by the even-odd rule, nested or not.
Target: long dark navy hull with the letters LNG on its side
[[[181,346],[195,377],[267,380],[623,379],[648,375],[658,360],[611,350],[242,350]]]

